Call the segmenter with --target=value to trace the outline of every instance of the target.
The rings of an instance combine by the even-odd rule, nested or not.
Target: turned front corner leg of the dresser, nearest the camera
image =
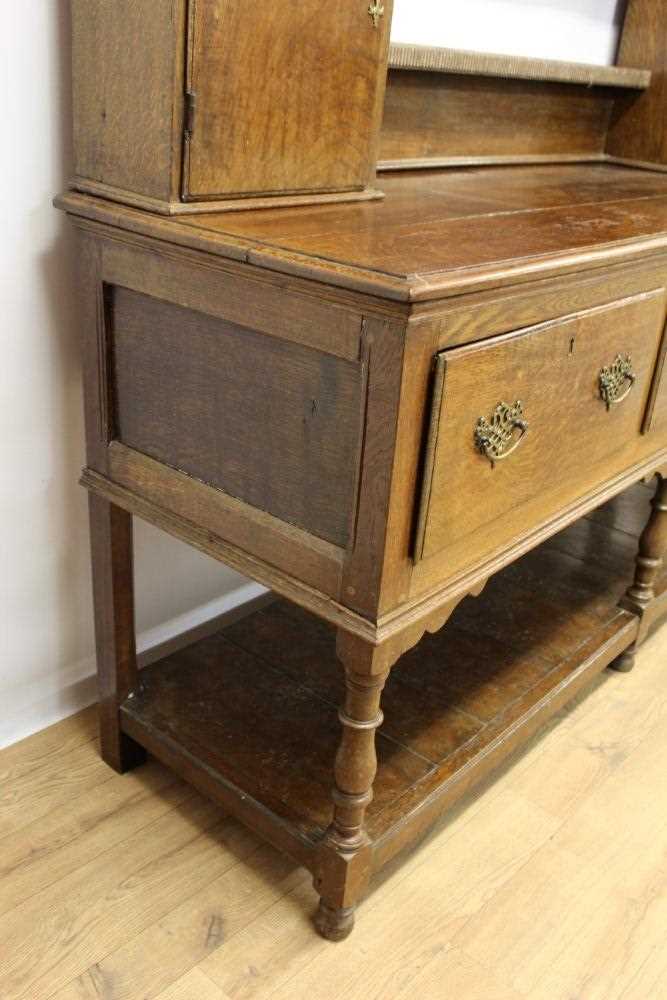
[[[334,765],[334,814],[315,881],[321,895],[315,923],[330,941],[342,941],[352,931],[356,904],[370,876],[364,817],[373,800],[375,734],[383,721],[380,697],[389,674],[388,669],[369,672],[372,651],[357,660],[341,653],[339,641],[339,655],[345,657],[346,695],[338,713],[342,736]]]

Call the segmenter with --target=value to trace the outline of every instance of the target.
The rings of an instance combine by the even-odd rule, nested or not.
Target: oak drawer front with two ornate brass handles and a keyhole
[[[437,355],[415,561],[479,563],[664,447],[664,323],[658,289]]]

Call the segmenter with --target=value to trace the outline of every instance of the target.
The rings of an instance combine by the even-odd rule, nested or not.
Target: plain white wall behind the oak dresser
[[[150,2],[150,0],[137,0]],[[604,62],[612,0],[396,0],[401,41]],[[72,243],[68,0],[3,7],[0,746],[94,698]],[[137,523],[140,647],[260,592]]]

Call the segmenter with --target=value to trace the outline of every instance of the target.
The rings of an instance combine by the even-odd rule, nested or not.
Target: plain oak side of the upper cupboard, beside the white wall
[[[185,2],[72,0],[76,184],[170,198]]]

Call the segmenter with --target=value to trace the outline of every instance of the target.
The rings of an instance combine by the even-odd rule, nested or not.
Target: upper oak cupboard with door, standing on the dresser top
[[[166,214],[377,196],[392,0],[72,0],[79,190]]]

